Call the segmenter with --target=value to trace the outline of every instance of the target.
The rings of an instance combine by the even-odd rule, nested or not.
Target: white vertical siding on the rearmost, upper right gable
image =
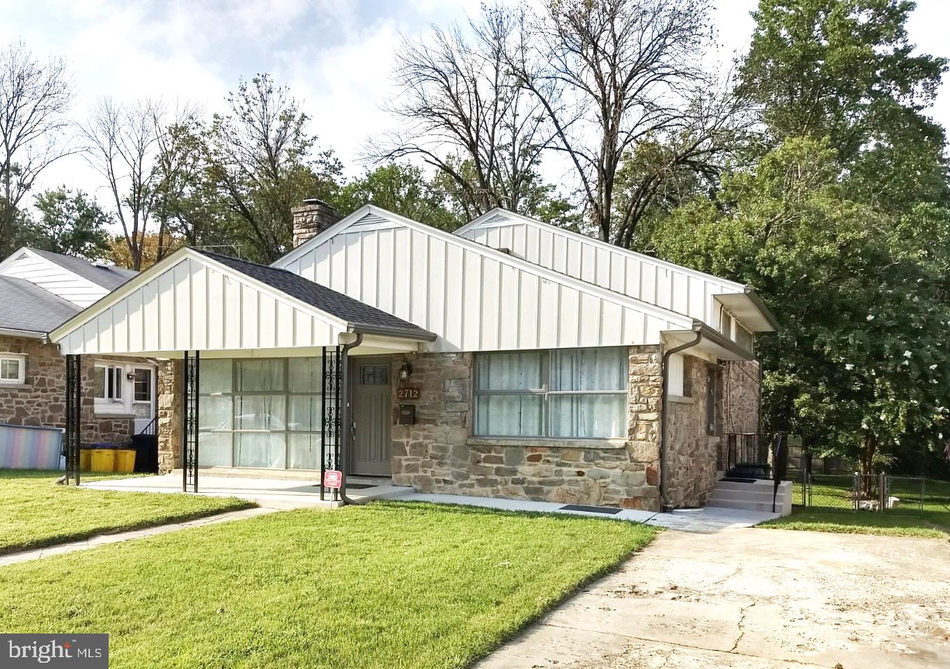
[[[485,214],[457,234],[493,249],[508,249],[542,267],[672,309],[713,327],[719,324],[719,307],[712,296],[744,290],[741,284],[517,214]]]

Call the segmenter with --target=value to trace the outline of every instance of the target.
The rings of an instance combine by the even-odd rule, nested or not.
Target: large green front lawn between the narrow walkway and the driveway
[[[465,667],[655,533],[418,503],[282,511],[4,567],[0,629],[107,632],[117,669]]]

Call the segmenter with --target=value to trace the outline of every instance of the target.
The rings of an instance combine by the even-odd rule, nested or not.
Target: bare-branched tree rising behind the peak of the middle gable
[[[466,28],[470,37],[457,25],[432,28],[397,51],[390,111],[404,128],[371,144],[371,155],[421,158],[454,182],[466,218],[494,207],[532,214],[550,128],[508,65],[510,53],[525,49],[525,12],[485,8]]]

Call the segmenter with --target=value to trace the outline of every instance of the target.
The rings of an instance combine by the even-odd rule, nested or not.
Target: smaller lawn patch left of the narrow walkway
[[[62,474],[0,470],[0,554],[255,506],[234,497],[58,486],[55,481]],[[109,477],[90,474],[82,480]]]

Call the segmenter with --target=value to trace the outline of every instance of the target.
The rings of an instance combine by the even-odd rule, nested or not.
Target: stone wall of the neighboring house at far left
[[[27,356],[26,382],[0,385],[0,422],[12,425],[66,427],[66,358],[55,344],[38,339],[0,337],[0,351]],[[103,441],[125,444],[132,435],[133,418],[96,416],[95,361],[83,356],[83,409],[81,439],[84,444]],[[100,359],[101,360],[101,359]],[[119,359],[114,359],[119,360]]]

